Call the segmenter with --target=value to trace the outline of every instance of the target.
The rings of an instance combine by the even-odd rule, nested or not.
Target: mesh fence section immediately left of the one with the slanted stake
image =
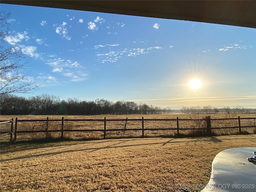
[[[63,130],[64,138],[102,139],[104,138],[104,120],[64,120]]]

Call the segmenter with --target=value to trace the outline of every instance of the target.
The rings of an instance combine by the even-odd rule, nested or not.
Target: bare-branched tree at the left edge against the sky
[[[40,86],[35,77],[25,73],[28,67],[25,54],[18,44],[9,44],[8,18],[10,13],[0,11],[0,95],[10,93],[30,93]]]

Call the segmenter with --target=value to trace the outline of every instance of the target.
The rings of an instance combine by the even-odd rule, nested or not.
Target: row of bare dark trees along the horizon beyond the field
[[[145,103],[119,100],[116,102],[96,99],[92,101],[81,101],[77,98],[60,100],[58,96],[42,94],[24,98],[13,94],[0,95],[1,115],[101,115],[101,114],[210,114],[218,112],[255,112],[255,109],[247,109],[241,106],[230,108],[215,108],[213,106],[182,106],[181,109],[161,108]]]

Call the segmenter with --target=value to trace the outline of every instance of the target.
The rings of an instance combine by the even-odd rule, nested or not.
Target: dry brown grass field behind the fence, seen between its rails
[[[210,115],[211,119],[216,118],[255,118],[256,114],[155,114],[155,115],[96,115],[96,116],[63,116],[64,119],[94,119],[101,121],[64,121],[64,130],[103,130],[104,129],[104,117],[106,117],[106,129],[120,129],[117,131],[107,131],[106,138],[138,138],[142,136],[142,130],[129,130],[122,131],[124,127],[126,129],[141,129],[142,128],[142,117],[144,119],[154,119],[145,120],[144,128],[149,130],[144,131],[144,137],[177,137],[177,130],[154,130],[154,128],[176,128],[177,122],[176,118],[179,119],[189,119],[180,120],[179,128],[194,128],[194,130],[180,130],[179,136],[205,136],[206,130],[198,130],[196,128],[206,128],[206,121],[204,118]],[[11,120],[11,118],[17,117],[18,120],[46,120],[47,116],[35,116],[35,115],[24,115],[24,116],[0,116],[1,120]],[[30,133],[18,133],[17,141],[28,141],[28,140],[40,140],[45,138],[60,138],[61,132],[49,132],[47,135],[45,132],[34,132],[34,131],[45,131],[46,127],[48,130],[61,130],[61,118],[60,115],[48,116],[49,120],[57,119],[59,121],[50,121],[48,126],[46,122],[18,122],[18,131],[32,131]],[[126,118],[128,118],[126,124]],[[110,121],[113,119],[119,119],[120,121]],[[131,119],[140,119],[140,121],[132,121]],[[166,121],[156,121],[156,119],[168,119]],[[172,121],[170,121],[172,119]],[[199,120],[191,120],[199,119]],[[109,120],[109,121],[108,121]],[[131,121],[129,121],[131,120]],[[238,127],[238,119],[232,120],[212,120],[212,128],[216,127]],[[6,129],[10,129],[10,124],[2,124],[6,126]],[[241,126],[255,126],[255,119],[241,119]],[[1,127],[1,130],[2,130]],[[242,128],[242,134],[256,134],[256,128]],[[238,128],[226,128],[226,129],[212,129],[212,134],[214,136],[219,135],[234,135],[239,134]],[[64,132],[64,138],[68,140],[92,140],[92,139],[102,139],[104,138],[103,131],[96,132]],[[10,136],[4,136],[0,138],[0,142],[8,142]]]

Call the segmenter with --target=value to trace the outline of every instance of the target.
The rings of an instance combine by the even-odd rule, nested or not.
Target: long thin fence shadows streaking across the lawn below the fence
[[[256,136],[252,136],[252,140],[255,140]],[[1,159],[0,162],[6,162],[6,161],[10,161],[10,160],[19,160],[19,159],[26,159],[26,158],[33,158],[33,157],[40,157],[40,156],[53,156],[53,155],[57,155],[57,154],[65,154],[68,152],[85,152],[85,153],[91,153],[97,150],[104,150],[104,149],[111,149],[111,148],[126,148],[126,147],[134,147],[134,146],[146,146],[146,145],[151,145],[153,148],[156,145],[166,145],[166,144],[172,144],[172,143],[184,143],[184,142],[204,142],[204,141],[209,141],[209,142],[222,142],[222,140],[230,140],[233,138],[216,138],[216,137],[198,137],[198,138],[187,138],[189,139],[184,141],[184,139],[180,139],[177,140],[177,138],[172,138],[168,141],[166,141],[166,139],[164,138],[155,138],[154,141],[156,142],[152,142],[151,139],[147,139],[147,138],[134,138],[134,139],[124,139],[124,140],[118,140],[118,139],[106,139],[106,140],[93,140],[93,141],[86,141],[86,142],[74,142],[71,143],[68,142],[66,143],[65,141],[63,143],[58,143],[55,145],[54,142],[50,143],[51,146],[49,146],[48,143],[46,143],[48,146],[45,146],[45,143],[38,143],[35,142],[34,144],[36,144],[36,146],[34,146],[33,142],[30,143],[24,143],[26,144],[26,146],[22,146],[22,143],[20,143],[20,145],[18,147],[20,147],[20,151],[24,151],[24,150],[29,150],[29,149],[36,149],[36,148],[42,148],[40,151],[38,152],[34,152],[34,153],[30,153],[30,154],[26,154],[24,156],[18,156],[18,157],[14,157],[14,158],[6,158],[6,159]],[[236,139],[236,138],[234,138]],[[237,139],[246,139],[248,140],[248,138],[237,138]],[[133,141],[138,141],[138,140],[142,140],[144,142],[138,143],[138,142],[133,142]],[[62,140],[63,141],[63,140]],[[105,142],[111,142],[109,144],[107,144],[106,146],[95,146],[96,144],[102,144]],[[114,143],[113,143],[114,142]],[[124,144],[126,142],[130,142],[127,144]],[[32,146],[31,146],[32,145]],[[74,148],[69,148],[70,146],[74,145]],[[77,145],[77,146],[75,146]],[[13,146],[13,145],[12,145]],[[25,149],[24,149],[25,147]],[[48,147],[53,147],[48,149]],[[66,148],[68,147],[68,148]],[[10,147],[13,148],[13,147]],[[65,149],[66,148],[66,149]],[[60,150],[61,149],[61,150]],[[13,148],[13,152],[16,152],[18,150],[15,150],[15,147]],[[56,150],[56,152],[54,152],[54,150]],[[11,152],[10,150],[7,150],[6,152]],[[22,153],[21,153],[22,154]]]

